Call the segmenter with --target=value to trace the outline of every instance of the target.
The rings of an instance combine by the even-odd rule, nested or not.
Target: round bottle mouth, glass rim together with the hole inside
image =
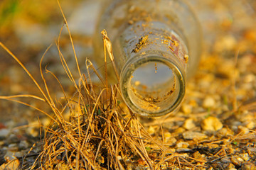
[[[121,73],[121,91],[127,106],[148,117],[174,111],[185,95],[184,72],[171,57],[132,57]]]

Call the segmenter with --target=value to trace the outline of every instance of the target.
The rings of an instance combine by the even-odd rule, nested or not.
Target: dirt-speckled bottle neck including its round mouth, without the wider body
[[[150,117],[174,111],[186,86],[188,50],[181,37],[162,23],[140,22],[124,30],[114,45],[127,105]]]

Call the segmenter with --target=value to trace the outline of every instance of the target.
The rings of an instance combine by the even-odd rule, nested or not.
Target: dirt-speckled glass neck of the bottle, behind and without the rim
[[[175,55],[181,67],[186,71],[188,47],[186,38],[174,32],[161,22],[137,22],[122,30],[114,39],[114,55],[119,73],[130,58],[149,51],[164,52]],[[170,57],[174,58],[174,57]],[[178,62],[177,61],[177,62]]]

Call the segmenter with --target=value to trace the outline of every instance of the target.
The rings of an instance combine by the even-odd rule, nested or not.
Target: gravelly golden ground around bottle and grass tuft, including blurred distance
[[[186,98],[178,113],[142,122],[146,122],[144,127],[152,137],[171,149],[170,154],[178,155],[176,161],[167,161],[162,169],[256,169],[256,3],[250,0],[190,3],[203,27],[203,56],[198,72],[188,82]],[[86,57],[93,60],[92,32],[97,5],[91,1],[71,4],[63,1],[62,6],[73,34],[78,62],[85,72]],[[39,62],[53,43],[43,67],[48,65],[65,91],[73,94],[73,85],[65,76],[55,48],[54,40],[63,25],[55,1],[38,4],[29,0],[4,1],[0,5],[0,22],[3,23],[0,41],[41,84]],[[70,69],[75,70],[65,32],[61,45]],[[78,73],[73,74],[78,79]],[[61,96],[58,82],[50,76],[46,76],[46,81],[53,98]],[[41,95],[23,69],[1,49],[0,95],[16,94]],[[50,113],[44,103],[28,98],[22,101]],[[18,166],[21,162],[15,158],[22,158],[33,144],[41,142],[40,131],[33,128],[38,122],[48,125],[50,120],[28,106],[0,101],[0,169]],[[33,153],[40,150],[41,147],[34,147]],[[150,149],[149,154],[155,156]],[[30,154],[28,160],[33,162],[37,155]],[[134,162],[138,169],[143,169],[143,161]]]

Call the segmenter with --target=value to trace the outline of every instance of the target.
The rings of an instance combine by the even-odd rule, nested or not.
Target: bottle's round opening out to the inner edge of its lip
[[[145,62],[131,74],[128,96],[140,114],[166,114],[180,95],[180,82],[174,68],[164,62]]]

